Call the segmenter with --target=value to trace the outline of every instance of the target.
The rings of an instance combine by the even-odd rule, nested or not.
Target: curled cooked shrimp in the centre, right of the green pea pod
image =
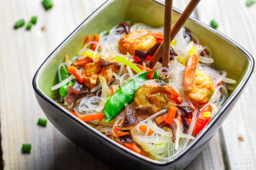
[[[151,104],[154,113],[159,112],[169,102],[165,98],[165,94],[177,104],[183,102],[182,98],[171,86],[143,85],[135,93],[134,105],[139,107]]]

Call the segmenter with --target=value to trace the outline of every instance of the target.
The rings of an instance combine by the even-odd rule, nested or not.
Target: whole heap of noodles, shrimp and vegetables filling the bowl
[[[59,90],[59,104],[102,134],[168,161],[207,126],[236,81],[213,68],[209,47],[185,28],[170,44],[169,68],[160,59],[149,69],[163,27],[128,23],[88,35],[79,54],[59,65],[52,90]]]

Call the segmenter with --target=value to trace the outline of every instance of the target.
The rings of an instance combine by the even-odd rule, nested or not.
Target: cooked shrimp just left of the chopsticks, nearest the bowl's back
[[[119,50],[122,54],[135,54],[135,49],[148,51],[159,40],[163,40],[163,34],[148,30],[137,30],[124,35],[118,42]]]

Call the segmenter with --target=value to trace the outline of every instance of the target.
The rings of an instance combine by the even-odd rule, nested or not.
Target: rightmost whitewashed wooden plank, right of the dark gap
[[[205,23],[215,19],[218,31],[256,56],[256,5],[247,7],[246,0],[207,0],[198,6],[199,19]],[[222,126],[226,154],[232,170],[256,169],[255,110],[256,75],[253,72],[239,101]],[[243,140],[239,141],[239,137]]]

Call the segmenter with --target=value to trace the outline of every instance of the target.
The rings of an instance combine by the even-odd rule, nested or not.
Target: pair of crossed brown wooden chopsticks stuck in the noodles
[[[150,68],[156,65],[157,61],[163,54],[163,67],[168,67],[170,59],[170,43],[180,31],[186,20],[194,11],[200,0],[191,0],[182,12],[177,22],[172,27],[172,0],[165,0],[164,10],[164,28],[163,28],[163,43],[159,46],[150,60]]]

